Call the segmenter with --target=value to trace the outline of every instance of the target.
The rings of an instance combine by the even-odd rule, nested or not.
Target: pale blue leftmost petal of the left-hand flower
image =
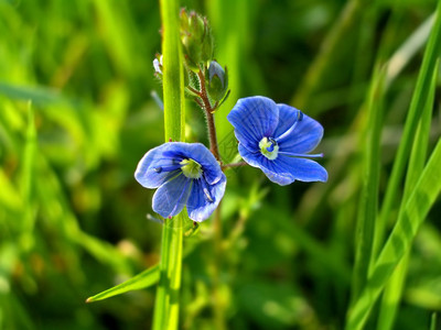
[[[173,166],[179,164],[180,160],[174,154],[176,145],[174,143],[164,143],[150,150],[138,163],[135,178],[146,188],[158,188],[164,182],[178,174],[174,172],[158,172],[155,168]]]

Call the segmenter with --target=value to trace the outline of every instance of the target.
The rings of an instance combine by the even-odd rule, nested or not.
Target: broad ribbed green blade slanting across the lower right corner
[[[412,189],[398,221],[383,249],[367,285],[348,314],[347,330],[363,329],[367,317],[417,235],[418,229],[441,191],[441,139]]]

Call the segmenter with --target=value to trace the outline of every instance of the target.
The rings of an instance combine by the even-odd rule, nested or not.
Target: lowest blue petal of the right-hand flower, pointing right
[[[300,182],[326,182],[327,172],[319,163],[306,160],[279,155],[270,161],[260,153],[250,153],[239,144],[239,153],[245,162],[254,167],[259,167],[273,183],[281,186]]]

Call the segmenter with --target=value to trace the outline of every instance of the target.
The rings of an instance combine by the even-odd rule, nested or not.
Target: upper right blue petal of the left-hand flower
[[[182,156],[192,158],[202,165],[202,170],[208,185],[213,185],[220,179],[220,165],[205,145],[183,142],[176,142],[175,144],[179,144]]]

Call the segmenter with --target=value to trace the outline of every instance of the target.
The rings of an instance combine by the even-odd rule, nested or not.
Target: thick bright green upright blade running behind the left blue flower
[[[179,0],[160,0],[162,20],[165,142],[185,136],[184,79],[180,41]],[[184,213],[165,219],[162,231],[160,280],[154,304],[154,330],[179,324]]]

